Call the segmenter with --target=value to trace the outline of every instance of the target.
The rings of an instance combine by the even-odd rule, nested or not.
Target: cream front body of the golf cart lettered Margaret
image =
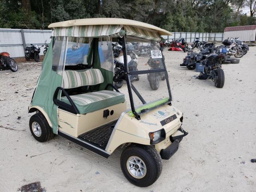
[[[156,113],[160,111],[165,111],[166,113],[160,117],[156,117]],[[169,138],[181,126],[180,118],[182,117],[182,113],[178,112],[178,114],[173,110],[173,107],[169,105],[143,114],[140,116],[141,120],[130,116],[129,113],[124,114],[124,116],[120,117],[120,122],[117,123],[114,128],[114,132],[112,133],[113,137],[110,138],[106,151],[112,153],[118,146],[124,143],[150,145],[149,133],[161,130],[162,128],[164,128],[166,132],[166,138]],[[162,120],[174,115],[176,116],[175,119],[162,126]],[[161,144],[159,146],[166,148],[170,144],[171,142],[168,142],[168,145]],[[160,147],[158,148],[158,150],[160,150]]]

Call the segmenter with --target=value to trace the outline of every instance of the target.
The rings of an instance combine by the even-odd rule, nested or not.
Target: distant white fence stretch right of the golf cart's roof
[[[200,41],[223,41],[223,33],[172,32],[172,35],[163,35],[162,37],[168,41],[184,38],[186,42],[193,42],[196,37],[199,38]]]

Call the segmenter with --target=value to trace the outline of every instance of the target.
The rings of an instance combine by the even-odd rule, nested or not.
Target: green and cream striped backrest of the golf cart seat
[[[64,71],[62,88],[76,88],[81,86],[96,85],[104,82],[99,69],[88,69],[84,72],[73,70]]]

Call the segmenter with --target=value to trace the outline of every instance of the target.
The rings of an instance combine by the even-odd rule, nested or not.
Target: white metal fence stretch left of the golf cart
[[[49,44],[52,30],[0,29],[0,52],[8,52],[11,57],[24,57],[24,48],[30,44]],[[44,52],[41,48],[40,55]]]

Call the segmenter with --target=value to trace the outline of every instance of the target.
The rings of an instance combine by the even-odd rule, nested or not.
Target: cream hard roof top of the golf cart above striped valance
[[[57,23],[52,23],[48,26],[48,28],[56,28],[56,27],[70,27],[70,26],[88,26],[88,25],[126,25],[126,26],[135,26],[146,28],[148,30],[153,30],[154,32],[158,32],[159,35],[172,35],[171,32],[168,32],[164,29],[156,27],[151,24],[147,24],[140,21],[130,20],[130,19],[120,19],[120,18],[90,18],[90,19],[76,19],[76,20],[68,20]]]

